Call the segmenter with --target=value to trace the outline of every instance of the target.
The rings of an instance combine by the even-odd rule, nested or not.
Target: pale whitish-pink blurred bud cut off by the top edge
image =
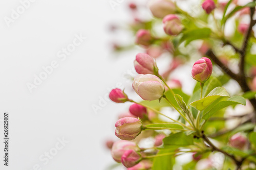
[[[157,18],[163,18],[168,14],[174,14],[175,4],[170,0],[151,0],[148,4],[152,14]]]

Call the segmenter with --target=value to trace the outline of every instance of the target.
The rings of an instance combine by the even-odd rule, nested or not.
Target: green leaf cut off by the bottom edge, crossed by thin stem
[[[157,155],[173,152],[173,150],[160,150]],[[175,164],[175,158],[173,155],[156,157],[153,160],[152,170],[172,170]]]

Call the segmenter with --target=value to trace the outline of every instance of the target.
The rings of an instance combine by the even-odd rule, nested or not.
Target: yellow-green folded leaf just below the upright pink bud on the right
[[[229,94],[224,87],[216,87],[215,89],[211,90],[211,92],[209,92],[209,94],[205,98],[192,102],[190,103],[190,105],[202,111],[214,101],[222,97],[229,97]]]

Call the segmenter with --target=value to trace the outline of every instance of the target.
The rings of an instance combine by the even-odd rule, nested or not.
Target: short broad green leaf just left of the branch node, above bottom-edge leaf
[[[163,139],[164,147],[166,146],[176,146],[176,147],[185,147],[187,145],[194,144],[194,138],[191,135],[186,135],[183,132],[171,134]]]

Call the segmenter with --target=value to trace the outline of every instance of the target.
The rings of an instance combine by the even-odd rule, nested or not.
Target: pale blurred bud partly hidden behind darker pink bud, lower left
[[[127,150],[139,151],[140,149],[138,145],[133,141],[119,140],[114,142],[111,149],[113,159],[117,162],[121,162],[121,157]]]

